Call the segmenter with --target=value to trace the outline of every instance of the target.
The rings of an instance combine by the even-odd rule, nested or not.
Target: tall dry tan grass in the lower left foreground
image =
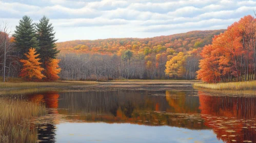
[[[36,142],[37,129],[32,123],[22,124],[24,119],[31,119],[47,114],[43,105],[0,99],[0,142]]]

